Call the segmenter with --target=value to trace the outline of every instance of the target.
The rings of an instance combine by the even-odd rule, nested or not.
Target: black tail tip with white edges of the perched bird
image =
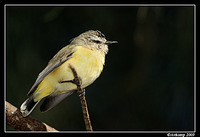
[[[24,101],[24,103],[20,107],[22,116],[23,117],[28,116],[39,102],[40,100],[37,102],[34,102],[33,96],[30,96],[26,101]]]

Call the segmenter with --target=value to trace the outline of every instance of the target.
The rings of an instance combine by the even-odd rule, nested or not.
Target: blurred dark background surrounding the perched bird
[[[93,29],[118,41],[86,88],[93,129],[194,130],[193,6],[7,6],[6,28],[6,100],[16,107],[48,61]],[[40,104],[32,117],[57,130],[85,130],[77,94],[45,113]]]

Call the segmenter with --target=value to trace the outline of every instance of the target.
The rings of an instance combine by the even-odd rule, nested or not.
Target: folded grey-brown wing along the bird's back
[[[62,48],[48,63],[47,67],[38,75],[32,88],[29,90],[27,96],[30,96],[36,89],[40,82],[55,68],[72,57],[74,51],[72,50],[74,45],[69,45]]]

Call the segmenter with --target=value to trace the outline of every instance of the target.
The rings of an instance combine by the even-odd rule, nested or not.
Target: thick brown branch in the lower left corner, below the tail
[[[13,105],[5,101],[6,122],[18,131],[47,131],[59,132],[56,129],[42,123],[30,116],[23,117],[21,112]]]

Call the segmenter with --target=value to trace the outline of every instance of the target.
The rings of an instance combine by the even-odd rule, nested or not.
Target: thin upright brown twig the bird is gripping
[[[85,99],[84,89],[81,86],[81,79],[78,76],[75,68],[71,64],[69,64],[69,67],[73,72],[74,81],[75,81],[74,83],[76,83],[77,93],[80,97],[82,111],[83,111],[83,119],[84,119],[84,122],[85,122],[86,130],[87,131],[93,131],[91,121],[90,121],[90,117],[89,117],[88,108],[87,108],[87,102],[86,102],[86,99]]]

